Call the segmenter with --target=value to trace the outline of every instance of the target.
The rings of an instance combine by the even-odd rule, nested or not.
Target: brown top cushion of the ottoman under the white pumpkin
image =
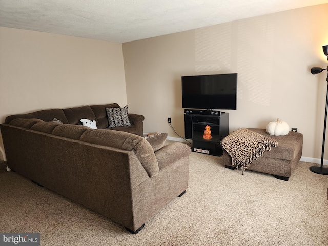
[[[271,136],[265,129],[248,128],[254,132],[271,137],[278,142],[277,148],[272,148],[271,151],[265,151],[263,157],[293,160],[303,146],[303,134],[298,132],[289,132],[285,136]]]

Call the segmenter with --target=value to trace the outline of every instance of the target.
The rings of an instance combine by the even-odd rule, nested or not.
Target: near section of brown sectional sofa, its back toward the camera
[[[56,109],[8,116],[0,125],[8,167],[132,233],[185,193],[188,145],[174,142],[154,152],[150,141],[129,132],[48,122],[80,118],[65,115]]]

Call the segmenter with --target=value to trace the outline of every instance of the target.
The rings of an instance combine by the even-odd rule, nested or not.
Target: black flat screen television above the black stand
[[[237,109],[237,73],[182,76],[182,108]]]

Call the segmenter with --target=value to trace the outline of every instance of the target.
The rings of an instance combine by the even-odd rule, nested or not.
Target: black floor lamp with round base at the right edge
[[[328,45],[322,46],[323,53],[327,56],[328,59]],[[327,70],[327,68],[322,69],[318,67],[311,68],[312,74],[318,74],[321,73],[323,70]],[[327,76],[327,83],[328,83],[328,76]],[[314,173],[318,174],[328,174],[328,168],[323,167],[323,152],[324,152],[324,141],[326,136],[326,125],[327,125],[327,110],[328,110],[328,86],[327,86],[327,96],[326,96],[326,110],[324,114],[324,127],[323,127],[323,139],[322,139],[322,152],[321,152],[321,165],[320,166],[311,166],[310,170]]]

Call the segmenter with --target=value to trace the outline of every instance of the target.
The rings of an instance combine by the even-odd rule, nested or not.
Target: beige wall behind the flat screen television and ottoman
[[[230,132],[265,128],[277,118],[304,135],[303,157],[321,158],[327,73],[328,4],[123,44],[129,109],[145,115],[145,132],[184,136],[181,76],[238,73]],[[303,158],[304,159],[304,158]],[[325,153],[328,159],[328,151]]]

